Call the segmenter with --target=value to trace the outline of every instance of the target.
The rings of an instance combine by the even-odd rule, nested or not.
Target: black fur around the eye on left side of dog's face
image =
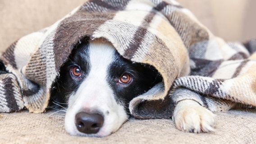
[[[55,83],[52,85],[50,96],[50,108],[60,108],[55,103],[59,103],[63,107],[67,107],[68,95],[78,90],[82,80],[86,78],[90,71],[88,43],[83,42],[77,45],[69,55],[68,62],[60,67],[59,77],[56,78]],[[73,66],[79,66],[82,70],[80,79],[73,80],[70,76],[70,69]]]

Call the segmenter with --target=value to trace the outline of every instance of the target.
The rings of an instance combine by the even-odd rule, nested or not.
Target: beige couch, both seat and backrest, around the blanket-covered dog
[[[19,37],[54,23],[84,0],[0,0],[0,52]],[[255,0],[178,0],[199,20],[225,40],[256,38]],[[235,10],[233,10],[235,9]],[[253,37],[254,36],[254,37]],[[171,119],[130,119],[105,138],[75,137],[64,130],[64,112],[27,111],[0,113],[0,143],[17,144],[253,144],[256,143],[256,111],[216,113],[215,133],[184,133]]]

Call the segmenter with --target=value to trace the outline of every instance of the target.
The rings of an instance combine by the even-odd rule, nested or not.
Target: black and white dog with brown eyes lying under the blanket
[[[104,137],[128,120],[134,97],[161,81],[153,66],[123,58],[110,42],[84,40],[60,68],[51,101],[67,107],[64,125],[70,135]],[[214,130],[214,114],[192,100],[179,102],[173,119],[179,130]]]

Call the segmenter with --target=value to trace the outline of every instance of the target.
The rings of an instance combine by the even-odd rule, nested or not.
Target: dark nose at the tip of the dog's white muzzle
[[[78,112],[76,115],[77,129],[85,134],[96,134],[103,125],[104,118],[100,114]]]

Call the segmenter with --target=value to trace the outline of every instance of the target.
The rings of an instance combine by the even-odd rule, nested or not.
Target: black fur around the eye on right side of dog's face
[[[132,76],[133,81],[130,84],[117,83],[123,73]],[[154,67],[132,63],[117,52],[114,54],[114,62],[109,67],[109,75],[108,82],[114,91],[116,101],[124,103],[126,107],[134,97],[145,93],[162,81],[162,77]]]

